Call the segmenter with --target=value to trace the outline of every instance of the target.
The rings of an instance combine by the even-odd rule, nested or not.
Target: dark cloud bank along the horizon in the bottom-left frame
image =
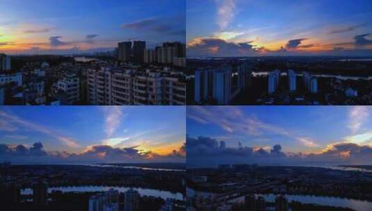
[[[8,160],[19,164],[29,163],[92,163],[92,162],[149,162],[167,161],[184,162],[185,146],[168,155],[159,155],[151,151],[142,151],[138,146],[118,148],[108,145],[91,146],[83,153],[68,153],[65,151],[45,151],[41,142],[35,142],[31,147],[23,144],[11,146],[0,144],[0,160]]]

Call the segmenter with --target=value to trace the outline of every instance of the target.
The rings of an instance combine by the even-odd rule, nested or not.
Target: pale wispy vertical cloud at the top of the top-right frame
[[[220,26],[220,31],[225,31],[235,16],[236,1],[235,0],[216,0],[217,6],[217,24]]]

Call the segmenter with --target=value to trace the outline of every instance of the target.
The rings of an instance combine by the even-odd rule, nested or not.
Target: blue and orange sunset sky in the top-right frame
[[[369,0],[189,0],[188,56],[372,56]]]

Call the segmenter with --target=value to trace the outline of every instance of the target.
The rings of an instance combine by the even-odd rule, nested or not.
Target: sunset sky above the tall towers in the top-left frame
[[[0,52],[65,54],[186,42],[184,0],[1,0]]]

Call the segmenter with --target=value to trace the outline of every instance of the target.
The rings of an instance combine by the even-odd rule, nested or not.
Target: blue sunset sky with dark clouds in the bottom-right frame
[[[372,164],[369,106],[188,106],[187,163]]]

